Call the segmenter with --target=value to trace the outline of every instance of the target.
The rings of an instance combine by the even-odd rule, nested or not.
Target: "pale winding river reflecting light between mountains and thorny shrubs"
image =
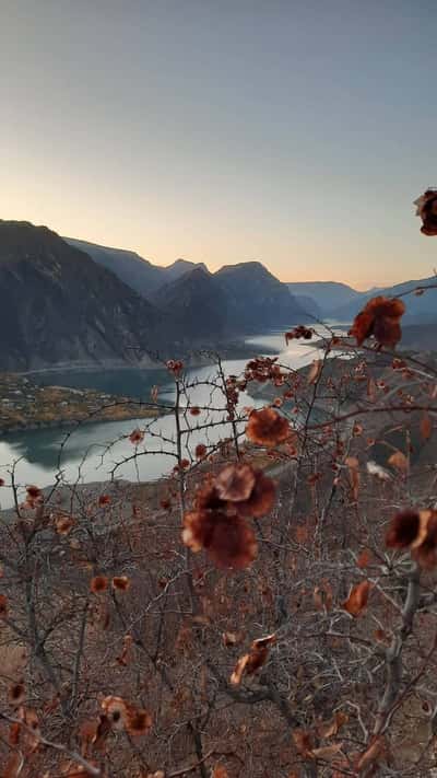
[[[284,330],[270,332],[247,339],[251,352],[253,347],[260,353],[272,350],[280,355],[281,362],[293,368],[304,367],[317,357],[317,349],[308,341],[291,341],[284,349]],[[249,351],[249,348],[248,348]],[[248,357],[249,359],[250,357]],[[226,374],[238,375],[246,364],[246,359],[227,360],[223,362]],[[214,376],[214,365],[196,368],[189,371],[188,378],[197,380],[199,385],[190,391],[190,400],[196,405],[208,405],[211,387],[202,384],[208,378]],[[160,386],[160,399],[172,402],[174,386],[168,381],[165,370],[119,370],[88,373],[50,373],[38,379],[46,384],[69,385],[75,387],[94,387],[108,393],[122,393],[132,397],[150,400],[153,385]],[[218,397],[217,405],[218,405]],[[256,406],[262,404],[249,394],[241,395],[241,406]],[[220,406],[223,405],[221,398]],[[215,419],[224,418],[216,413]],[[209,418],[212,416],[210,414]],[[203,418],[203,421],[205,419]],[[144,419],[138,423],[130,421],[86,423],[76,428],[50,428],[28,430],[11,433],[0,440],[0,477],[8,481],[8,471],[15,463],[16,483],[21,486],[37,484],[45,487],[54,483],[55,476],[60,471],[62,478],[69,483],[90,483],[107,480],[115,471],[117,477],[128,480],[156,480],[167,475],[175,464],[168,453],[160,450],[160,441],[153,436],[146,436],[144,446],[147,451],[157,451],[153,455],[144,455],[137,461],[127,457],[132,455],[132,443],[128,436],[137,426],[144,428]],[[202,415],[191,418],[190,426],[202,423]],[[153,421],[151,431],[160,431],[168,439],[165,450],[172,450],[169,442],[174,433],[173,416],[164,416]],[[209,430],[208,438],[204,430],[193,429],[190,433],[190,445],[197,442],[214,443],[224,436],[223,427]],[[142,450],[142,446],[139,448]],[[12,492],[8,486],[0,491],[0,507],[9,508],[12,504]]]

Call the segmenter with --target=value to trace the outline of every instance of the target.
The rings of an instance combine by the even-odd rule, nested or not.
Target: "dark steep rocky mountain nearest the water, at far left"
[[[0,369],[147,361],[162,314],[45,227],[0,220]]]

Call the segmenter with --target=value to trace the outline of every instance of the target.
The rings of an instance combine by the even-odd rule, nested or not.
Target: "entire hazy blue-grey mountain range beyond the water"
[[[382,292],[404,293],[426,280],[433,279]],[[381,291],[331,281],[284,283],[259,262],[215,272],[186,259],[160,267],[134,252],[2,220],[0,283],[0,369],[13,371],[147,365],[156,353],[220,348],[231,337],[311,318],[350,322]],[[420,340],[426,324],[432,340],[436,302],[437,289],[409,297],[410,338]]]

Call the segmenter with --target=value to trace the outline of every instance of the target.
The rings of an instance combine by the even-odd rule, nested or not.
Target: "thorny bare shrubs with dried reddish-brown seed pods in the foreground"
[[[218,361],[205,407],[169,361],[175,467],[154,491],[23,499],[11,467],[3,776],[436,775],[437,370],[395,352],[404,310],[367,303],[350,361],[328,330],[304,372]],[[253,382],[275,396],[241,408]]]

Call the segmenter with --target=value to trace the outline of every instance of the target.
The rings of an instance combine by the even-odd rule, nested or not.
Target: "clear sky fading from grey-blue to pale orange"
[[[158,265],[423,278],[436,0],[0,0],[0,218]]]

